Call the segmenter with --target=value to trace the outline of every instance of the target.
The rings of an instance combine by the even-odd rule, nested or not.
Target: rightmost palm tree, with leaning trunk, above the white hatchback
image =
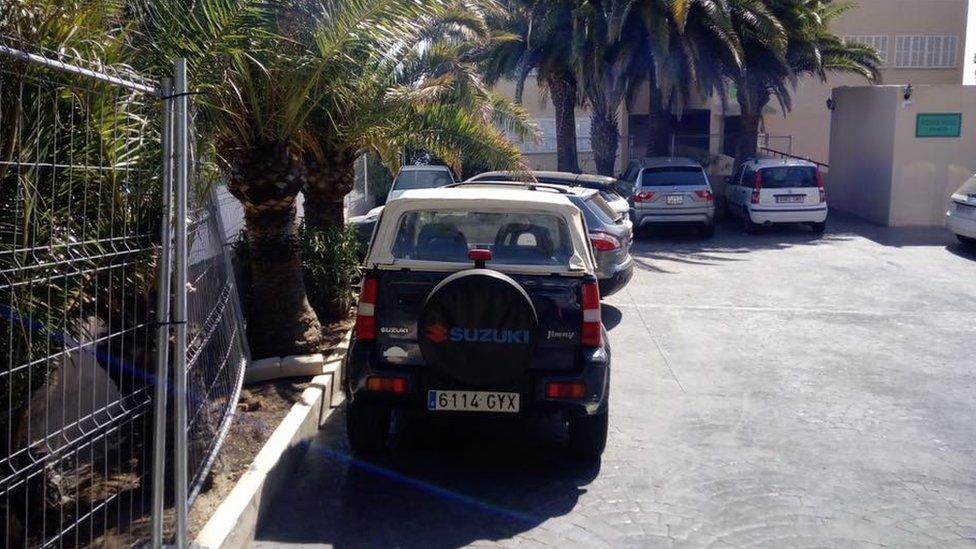
[[[791,108],[791,93],[799,78],[813,76],[821,82],[829,72],[880,78],[881,58],[866,44],[848,44],[830,30],[830,24],[853,7],[832,0],[766,0],[769,12],[784,29],[785,40],[770,41],[756,33],[735,12],[733,24],[743,45],[743,63],[729,78],[736,85],[741,109],[736,163],[755,156],[763,108],[776,98],[783,113]]]

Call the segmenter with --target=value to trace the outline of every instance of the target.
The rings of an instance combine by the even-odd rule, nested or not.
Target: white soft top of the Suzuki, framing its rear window
[[[564,272],[586,274],[594,270],[594,260],[589,239],[583,224],[583,215],[565,195],[545,190],[522,190],[511,187],[455,187],[418,189],[404,192],[391,200],[383,209],[383,217],[376,228],[373,245],[366,258],[367,267],[393,266],[417,270],[444,270],[455,265],[440,261],[395,259],[393,242],[403,214],[427,210],[471,210],[478,212],[539,212],[554,214],[567,220],[573,238],[574,254]],[[470,267],[470,263],[458,263],[458,268]],[[552,273],[551,265],[497,265],[503,272]]]

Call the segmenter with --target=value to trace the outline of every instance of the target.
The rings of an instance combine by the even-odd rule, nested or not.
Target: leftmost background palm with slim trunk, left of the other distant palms
[[[576,106],[579,81],[573,59],[573,10],[578,0],[507,0],[504,11],[489,19],[505,37],[484,52],[485,79],[494,85],[502,78],[515,80],[515,98],[521,102],[525,82],[534,72],[549,94],[556,121],[556,166],[579,172],[576,151]]]

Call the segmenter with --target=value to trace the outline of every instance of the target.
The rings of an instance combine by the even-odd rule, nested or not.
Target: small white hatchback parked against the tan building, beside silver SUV
[[[827,193],[817,165],[796,159],[753,159],[726,180],[728,213],[742,219],[746,232],[774,223],[806,223],[823,234]]]

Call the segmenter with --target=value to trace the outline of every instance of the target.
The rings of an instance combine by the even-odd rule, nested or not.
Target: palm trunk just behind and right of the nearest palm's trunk
[[[330,149],[321,160],[305,155],[305,223],[309,227],[339,227],[345,222],[343,198],[356,181],[356,153]]]

